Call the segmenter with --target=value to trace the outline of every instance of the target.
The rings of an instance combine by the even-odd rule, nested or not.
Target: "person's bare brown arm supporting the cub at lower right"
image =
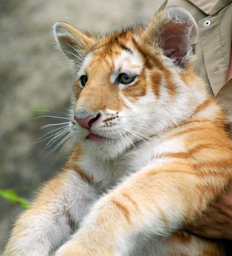
[[[232,240],[232,181],[207,214],[188,225],[187,230],[206,238]]]

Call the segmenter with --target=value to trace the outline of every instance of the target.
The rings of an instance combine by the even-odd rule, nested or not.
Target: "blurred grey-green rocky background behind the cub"
[[[66,21],[79,28],[107,32],[148,22],[161,3],[0,0],[0,189],[13,189],[32,199],[36,189],[62,169],[69,154],[69,147],[49,154],[52,147],[45,148],[46,141],[35,144],[36,139],[51,131],[39,129],[42,125],[64,120],[30,119],[39,115],[65,117],[69,105],[69,62],[55,50],[52,25]],[[0,209],[1,255],[22,207],[0,198]]]

